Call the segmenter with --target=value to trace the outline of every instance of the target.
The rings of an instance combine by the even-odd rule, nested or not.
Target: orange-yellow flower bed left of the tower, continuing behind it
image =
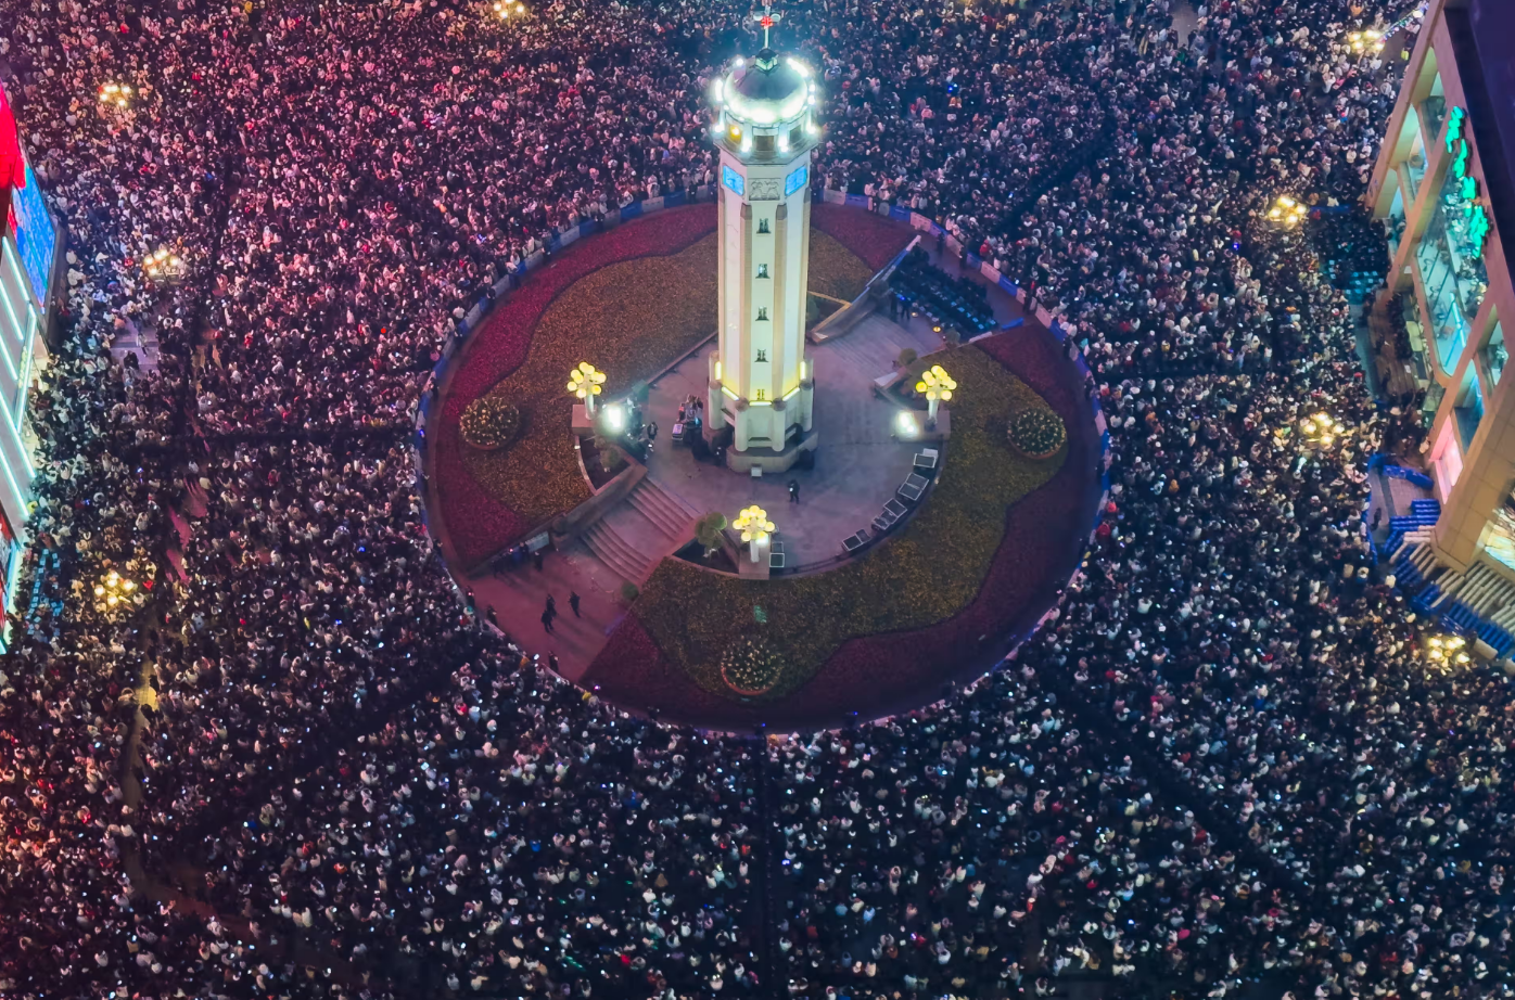
[[[817,291],[856,295],[870,277],[856,255],[811,232]],[[467,448],[468,474],[529,524],[588,500],[568,429],[568,371],[580,361],[604,371],[603,402],[658,374],[715,330],[715,279],[712,233],[679,253],[611,264],[568,286],[538,321],[526,362],[485,394],[520,408],[520,439],[503,452]]]

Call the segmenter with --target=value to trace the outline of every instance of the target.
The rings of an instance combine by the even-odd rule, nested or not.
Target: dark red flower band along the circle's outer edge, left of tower
[[[438,417],[427,429],[439,508],[433,511],[433,530],[448,539],[453,558],[473,565],[535,527],[494,500],[464,468],[458,421],[468,403],[526,361],[547,306],[580,277],[618,261],[677,253],[714,229],[715,206],[692,205],[594,233],[527,276],[485,317],[464,347],[462,364],[447,383]]]

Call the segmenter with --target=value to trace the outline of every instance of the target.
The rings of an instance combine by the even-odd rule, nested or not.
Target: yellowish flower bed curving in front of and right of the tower
[[[1004,447],[1012,412],[1045,402],[977,347],[933,358],[957,379],[953,436],[926,508],[882,547],[820,576],[738,580],[665,559],[635,612],[670,662],[706,691],[726,692],[723,652],[762,608],[786,650],[785,676],[765,697],[797,689],[850,638],[921,629],[951,617],[979,592],[1004,536],[1006,508],[1060,468]],[[1067,452],[1064,452],[1064,456]]]

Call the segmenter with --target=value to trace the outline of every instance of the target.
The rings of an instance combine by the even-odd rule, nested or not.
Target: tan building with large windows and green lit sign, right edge
[[[1429,426],[1436,558],[1515,580],[1515,5],[1430,0],[1368,188],[1389,235],[1374,305]],[[1512,326],[1515,333],[1515,326]]]

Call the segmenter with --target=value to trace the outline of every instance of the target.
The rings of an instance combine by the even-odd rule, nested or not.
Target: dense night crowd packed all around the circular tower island
[[[1064,317],[1114,465],[1003,670],[768,742],[562,683],[426,536],[406,430],[456,321],[554,230],[708,185],[706,88],[753,39],[736,3],[506,14],[0,0],[70,232],[0,661],[0,992],[1512,994],[1515,698],[1430,665],[1374,565],[1364,465],[1420,427],[1264,220],[1364,189],[1397,80],[1347,33],[1401,11],[786,11],[818,183]]]

